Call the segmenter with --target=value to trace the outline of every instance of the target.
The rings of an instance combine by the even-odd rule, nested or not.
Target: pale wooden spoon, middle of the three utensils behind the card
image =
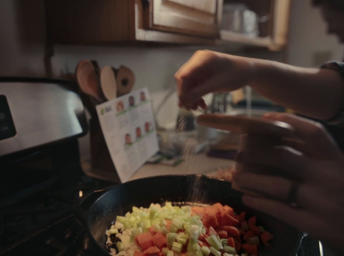
[[[100,85],[107,100],[117,98],[115,72],[110,66],[104,66],[100,71]]]

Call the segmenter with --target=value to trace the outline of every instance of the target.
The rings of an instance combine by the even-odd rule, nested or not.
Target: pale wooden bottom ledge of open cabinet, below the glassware
[[[234,42],[246,45],[261,46],[270,48],[273,41],[270,36],[267,37],[250,37],[242,33],[232,32],[228,30],[220,30],[219,44],[226,42]]]

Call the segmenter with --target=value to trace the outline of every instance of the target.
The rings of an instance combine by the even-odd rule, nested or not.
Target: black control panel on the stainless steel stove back
[[[7,99],[5,95],[0,95],[0,140],[13,137],[16,134]]]

